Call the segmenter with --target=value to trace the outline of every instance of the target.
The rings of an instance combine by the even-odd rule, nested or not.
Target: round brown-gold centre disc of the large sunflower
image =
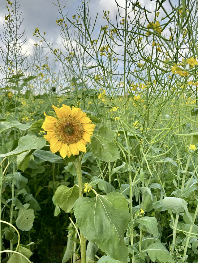
[[[54,125],[54,133],[60,142],[72,144],[83,138],[84,128],[78,119],[63,117]]]

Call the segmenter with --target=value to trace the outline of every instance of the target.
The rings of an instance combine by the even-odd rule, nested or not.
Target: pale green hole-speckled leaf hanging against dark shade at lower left
[[[28,209],[29,204],[24,204],[23,208],[19,208],[19,214],[16,219],[17,227],[22,231],[29,231],[34,222],[34,210]]]

